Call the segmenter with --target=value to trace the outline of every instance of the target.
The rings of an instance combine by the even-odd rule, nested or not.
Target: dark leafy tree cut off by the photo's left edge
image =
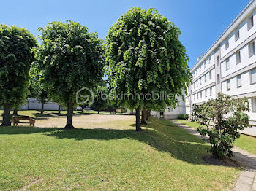
[[[10,125],[10,109],[23,104],[29,93],[29,69],[34,61],[34,36],[25,28],[0,25],[0,106],[3,122]]]

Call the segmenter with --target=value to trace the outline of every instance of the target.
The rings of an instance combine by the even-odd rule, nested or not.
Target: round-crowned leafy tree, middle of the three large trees
[[[86,87],[93,90],[102,79],[102,39],[79,23],[53,22],[41,31],[42,44],[36,50],[50,98],[67,106],[67,125],[72,125],[77,92]]]

